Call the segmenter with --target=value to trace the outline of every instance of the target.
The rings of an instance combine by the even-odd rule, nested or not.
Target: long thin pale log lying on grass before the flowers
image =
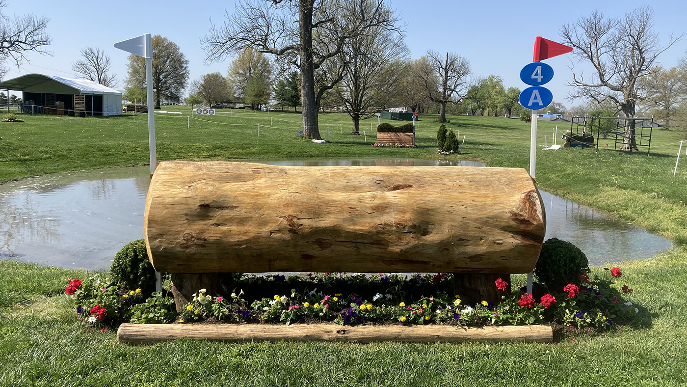
[[[117,339],[127,344],[145,344],[176,339],[222,342],[552,342],[551,327],[545,325],[507,327],[451,327],[448,325],[338,324],[122,324]]]

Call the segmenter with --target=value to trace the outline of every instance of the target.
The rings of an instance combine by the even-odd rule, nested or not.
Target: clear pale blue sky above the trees
[[[520,69],[532,61],[534,37],[543,36],[559,41],[559,30],[566,21],[574,21],[598,9],[607,16],[622,16],[633,8],[647,4],[642,1],[545,1],[541,5],[520,1],[417,1],[392,0],[393,8],[407,23],[406,44],[412,58],[419,58],[427,49],[451,51],[470,60],[474,75],[502,76],[504,86],[526,87],[519,80]],[[10,0],[5,16],[21,15],[32,10],[51,20],[48,32],[54,56],[29,54],[31,63],[20,69],[10,67],[6,79],[32,72],[74,78],[71,63],[80,58],[79,49],[100,47],[112,59],[112,70],[123,88],[126,77],[125,52],[112,45],[117,41],[150,32],[166,36],[181,47],[190,60],[191,79],[209,72],[226,74],[231,59],[205,65],[199,38],[207,33],[210,17],[223,23],[225,9],[234,11],[234,1],[82,1],[65,2]],[[687,1],[653,1],[655,31],[662,43],[668,36],[687,32],[684,18]],[[687,37],[660,56],[660,64],[671,67],[684,57]],[[565,100],[571,80],[568,66],[572,56],[546,60],[556,73],[545,87],[551,89],[554,100],[570,107]],[[576,65],[576,69],[585,68]]]

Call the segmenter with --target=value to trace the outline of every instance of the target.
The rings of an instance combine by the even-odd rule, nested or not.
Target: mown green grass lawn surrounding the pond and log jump
[[[181,109],[181,108],[179,108]],[[185,109],[184,112],[188,112]],[[0,181],[42,173],[145,164],[145,115],[113,118],[25,116],[0,122]],[[465,155],[489,165],[527,167],[529,124],[451,117]],[[418,149],[372,148],[361,122],[322,115],[330,144],[296,134],[300,115],[221,111],[205,121],[156,115],[158,159],[302,157],[436,158],[438,124],[418,122]],[[260,137],[257,136],[260,124]],[[374,120],[376,124],[376,120]],[[550,136],[551,123],[539,122]],[[568,129],[559,123],[559,129]],[[372,133],[370,133],[372,132]],[[619,263],[641,324],[557,344],[117,344],[87,331],[63,305],[65,278],[84,272],[0,261],[0,386],[681,386],[687,384],[687,165],[673,177],[684,133],[654,131],[652,155],[562,149],[539,152],[539,186],[617,214],[671,239],[651,260]],[[669,145],[668,145],[669,144]],[[612,145],[611,145],[612,146]],[[687,160],[685,161],[687,162]],[[631,258],[631,257],[628,257]],[[600,270],[600,269],[594,269]],[[515,279],[515,277],[514,277]],[[518,280],[524,280],[520,276]],[[517,282],[514,280],[513,282]]]

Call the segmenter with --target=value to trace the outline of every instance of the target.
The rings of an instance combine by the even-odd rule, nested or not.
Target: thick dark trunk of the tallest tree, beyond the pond
[[[322,140],[317,127],[315,103],[315,63],[313,63],[313,5],[311,0],[300,0],[300,71],[301,109],[303,112],[303,138]]]

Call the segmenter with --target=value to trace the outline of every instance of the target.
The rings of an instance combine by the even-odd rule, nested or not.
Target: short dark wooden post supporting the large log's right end
[[[455,294],[460,296],[464,305],[475,305],[482,301],[497,305],[501,296],[509,296],[508,291],[496,289],[495,281],[501,278],[510,285],[510,274],[473,274],[454,273]]]

